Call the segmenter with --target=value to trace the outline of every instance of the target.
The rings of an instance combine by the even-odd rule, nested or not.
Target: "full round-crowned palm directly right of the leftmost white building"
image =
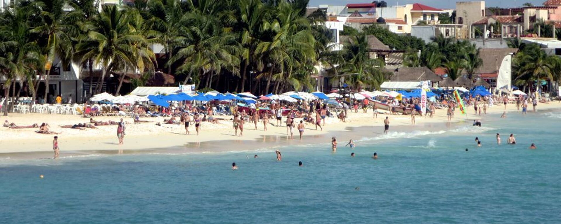
[[[131,30],[129,21],[130,17],[117,6],[104,5],[89,24],[88,39],[76,46],[75,57],[80,64],[93,58],[94,64],[102,67],[96,93],[102,91],[105,76],[114,69],[136,66],[132,58],[137,54],[135,44],[145,44],[146,40],[141,34]]]

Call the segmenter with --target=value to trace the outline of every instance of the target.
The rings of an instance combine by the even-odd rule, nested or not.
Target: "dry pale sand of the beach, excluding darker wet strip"
[[[558,109],[561,108],[561,103],[555,101],[549,104],[540,103],[537,105],[537,109]],[[528,113],[533,113],[531,111],[531,105],[528,108],[530,111]],[[480,119],[485,122],[486,116],[500,116],[503,113],[503,105],[495,105],[492,108],[487,109],[486,115],[482,114],[474,115],[473,108],[467,108],[467,119],[465,115],[460,115],[459,111],[456,110],[456,117],[452,119],[452,122],[471,122],[473,119]],[[520,113],[516,109],[516,104],[507,105],[508,113]],[[423,118],[421,116],[416,117],[416,124],[411,124],[411,116],[405,115],[385,115],[379,114],[378,118],[373,118],[373,111],[369,110],[367,113],[363,113],[359,110],[358,113],[349,112],[347,122],[340,122],[337,118],[327,118],[327,124],[324,130],[315,130],[315,127],[311,124],[306,125],[306,130],[304,132],[305,138],[300,141],[298,139],[298,130],[295,128],[295,138],[287,139],[288,144],[307,144],[311,143],[311,139],[306,137],[318,136],[330,132],[344,132],[350,129],[358,130],[357,127],[372,127],[374,130],[379,129],[379,132],[383,132],[383,119],[385,116],[390,117],[390,130],[391,127],[399,126],[400,129],[415,130],[420,127],[426,126],[426,124],[435,123],[443,124],[448,123],[446,110],[439,109],[436,110],[435,116],[433,118]],[[224,120],[220,120],[220,124],[211,124],[208,122],[203,122],[201,127],[201,132],[199,136],[196,135],[195,127],[192,125],[190,127],[191,134],[186,135],[183,125],[171,125],[162,124],[162,126],[157,126],[155,123],[163,123],[164,118],[142,118],[142,120],[149,120],[150,123],[140,123],[132,124],[132,118],[125,117],[125,122],[128,122],[126,127],[126,137],[125,144],[122,146],[117,145],[117,126],[98,126],[98,129],[86,129],[86,130],[76,130],[68,128],[60,128],[59,125],[77,124],[77,123],[88,123],[89,118],[81,118],[79,115],[51,115],[51,114],[9,114],[9,116],[2,116],[3,120],[8,120],[10,123],[16,123],[17,125],[31,125],[33,123],[41,124],[43,122],[48,123],[51,130],[54,132],[62,132],[58,134],[59,137],[59,147],[61,148],[61,153],[64,151],[133,151],[133,150],[146,150],[154,148],[168,148],[168,147],[182,147],[192,144],[200,144],[201,142],[209,141],[225,141],[230,142],[228,144],[215,144],[215,147],[227,147],[229,150],[236,150],[237,148],[243,147],[242,145],[232,144],[232,141],[227,140],[238,140],[243,141],[261,141],[265,137],[282,137],[286,139],[287,128],[282,125],[280,127],[274,127],[273,124],[276,120],[270,120],[273,124],[267,125],[268,130],[263,130],[263,123],[257,124],[257,130],[254,130],[254,124],[246,122],[243,137],[234,136],[234,130],[232,128],[231,116],[218,116]],[[98,121],[113,120],[118,121],[120,117],[118,116],[98,116],[94,118]],[[284,122],[284,118],[283,118]],[[296,119],[296,123],[299,123],[300,119]],[[284,126],[284,127],[283,127]],[[48,134],[38,134],[35,133],[38,128],[30,129],[9,129],[5,127],[0,128],[0,158],[8,157],[8,155],[13,156],[13,153],[21,152],[52,152],[52,139],[54,135]],[[274,144],[272,145],[274,146]],[[196,152],[193,147],[184,147],[186,152]],[[8,154],[9,153],[9,154]]]

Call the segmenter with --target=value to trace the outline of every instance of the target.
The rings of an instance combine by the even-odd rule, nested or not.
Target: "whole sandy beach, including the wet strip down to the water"
[[[549,104],[538,104],[538,111],[549,109],[561,109],[561,103],[552,101]],[[507,111],[508,113],[517,112],[516,104],[507,105],[504,110],[503,105],[495,105],[488,108],[486,115],[474,116],[470,114],[472,108],[466,108],[466,116],[458,116],[447,122],[446,111],[436,110],[434,118],[416,117],[416,124],[411,125],[411,116],[408,115],[385,115],[378,114],[377,119],[372,118],[372,111],[366,114],[361,110],[358,113],[349,112],[348,122],[339,122],[337,118],[328,118],[327,127],[323,132],[313,130],[312,125],[306,125],[306,130],[302,141],[295,133],[294,139],[287,139],[286,127],[273,127],[268,125],[268,131],[263,131],[263,123],[258,123],[258,130],[244,130],[243,137],[234,136],[231,122],[221,120],[222,124],[204,123],[201,128],[200,136],[194,136],[194,127],[190,127],[191,135],[186,136],[183,125],[164,125],[156,126],[155,122],[162,122],[163,118],[144,118],[151,120],[152,123],[128,124],[127,138],[125,144],[118,146],[114,126],[99,127],[99,129],[76,130],[57,128],[58,125],[84,123],[89,118],[81,118],[77,115],[48,115],[48,114],[11,114],[12,116],[3,117],[4,120],[15,122],[19,125],[27,125],[31,120],[49,119],[47,123],[52,126],[52,130],[59,134],[59,145],[61,146],[61,157],[66,156],[86,156],[86,155],[113,155],[122,151],[123,154],[148,154],[148,153],[213,153],[213,152],[237,152],[248,151],[247,148],[255,150],[257,148],[273,148],[277,146],[293,146],[305,144],[329,143],[331,136],[337,136],[339,145],[344,146],[351,137],[356,140],[364,137],[376,137],[383,132],[383,118],[390,117],[390,133],[411,130],[446,130],[450,127],[467,122],[471,124],[472,119],[485,120],[486,116],[493,116]],[[518,113],[520,113],[518,111]],[[529,111],[528,113],[534,113]],[[228,119],[230,116],[219,116]],[[96,120],[116,120],[119,117],[96,117]],[[61,120],[62,119],[62,120]],[[125,122],[132,122],[132,118],[124,118]],[[296,119],[299,122],[300,119]],[[284,121],[284,119],[283,119]],[[275,120],[273,120],[275,122]],[[21,123],[21,124],[20,124]],[[366,124],[366,125],[365,125]],[[246,123],[246,128],[253,128],[252,123]],[[15,130],[15,132],[14,132]],[[368,131],[370,130],[370,131]],[[49,158],[52,156],[52,137],[54,135],[37,134],[35,129],[0,129],[0,160],[11,159],[30,159],[30,158]],[[181,131],[183,133],[181,133]],[[295,129],[297,132],[297,130]],[[149,133],[149,134],[145,134]],[[355,138],[358,134],[360,138]],[[366,135],[368,133],[369,135]],[[68,150],[71,148],[72,150]]]

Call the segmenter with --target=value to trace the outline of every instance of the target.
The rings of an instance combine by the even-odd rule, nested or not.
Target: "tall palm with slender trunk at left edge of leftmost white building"
[[[45,41],[40,41],[44,43],[42,47],[46,52],[46,64],[45,70],[45,102],[49,94],[49,74],[51,71],[54,59],[58,57],[61,59],[62,66],[66,66],[70,63],[73,46],[70,36],[68,36],[68,30],[65,22],[67,21],[67,13],[64,10],[66,6],[66,0],[49,0],[49,1],[36,1],[34,2],[34,7],[40,12],[40,24],[33,29],[31,32],[44,35]]]

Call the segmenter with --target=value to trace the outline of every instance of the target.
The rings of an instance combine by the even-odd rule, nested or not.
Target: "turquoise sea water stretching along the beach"
[[[561,111],[508,115],[337,153],[274,148],[280,162],[274,149],[0,160],[0,223],[561,223]]]

